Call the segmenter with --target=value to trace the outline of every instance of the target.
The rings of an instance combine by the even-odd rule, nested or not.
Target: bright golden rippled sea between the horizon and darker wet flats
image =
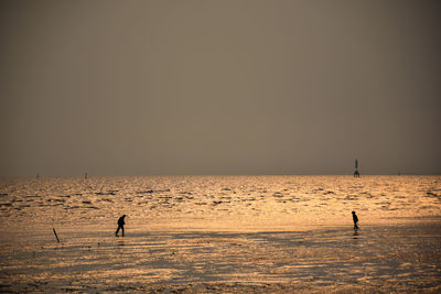
[[[122,214],[140,227],[346,225],[441,215],[440,176],[176,176],[1,179],[8,226],[93,221]],[[197,222],[202,222],[197,224]],[[103,227],[103,228],[104,228]]]

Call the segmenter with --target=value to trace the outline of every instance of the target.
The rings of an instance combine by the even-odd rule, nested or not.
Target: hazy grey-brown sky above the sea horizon
[[[0,176],[441,173],[441,3],[0,2]]]

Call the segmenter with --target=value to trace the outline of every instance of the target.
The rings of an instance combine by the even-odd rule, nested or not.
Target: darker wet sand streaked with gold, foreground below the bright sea
[[[1,242],[2,292],[440,292],[441,224],[279,231],[93,228]]]

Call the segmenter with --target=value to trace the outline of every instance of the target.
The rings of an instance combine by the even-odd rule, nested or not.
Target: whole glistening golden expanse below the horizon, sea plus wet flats
[[[0,291],[441,291],[441,176],[0,186]]]

